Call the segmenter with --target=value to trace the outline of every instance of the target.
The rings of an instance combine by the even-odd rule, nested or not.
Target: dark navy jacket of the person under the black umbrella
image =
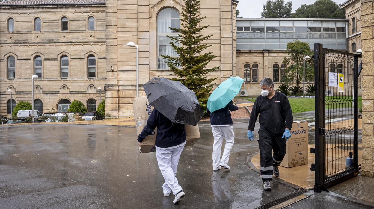
[[[148,117],[147,125],[144,126],[142,132],[138,136],[138,142],[142,142],[156,127],[156,147],[174,147],[186,141],[186,129],[184,124],[173,124],[162,113],[154,109]]]

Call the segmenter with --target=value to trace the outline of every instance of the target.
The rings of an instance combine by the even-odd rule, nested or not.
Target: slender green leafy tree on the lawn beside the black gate
[[[299,87],[300,82],[303,81],[303,61],[307,55],[310,58],[305,59],[305,77],[307,80],[312,80],[314,77],[313,52],[310,50],[309,44],[300,40],[289,42],[286,52],[288,52],[289,58],[283,59],[283,63],[287,65],[283,82],[296,84],[296,87]]]

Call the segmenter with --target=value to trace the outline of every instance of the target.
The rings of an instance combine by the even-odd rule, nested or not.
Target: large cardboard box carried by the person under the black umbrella
[[[134,109],[137,134],[139,135],[144,126],[147,124],[148,117],[151,115],[153,107],[147,103],[146,96],[135,98],[132,106]],[[186,133],[187,142],[185,146],[194,145],[200,138],[199,125],[186,125]],[[151,135],[145,137],[145,139],[141,143],[142,147],[140,148],[140,153],[151,153],[156,151],[156,147],[154,146],[156,142],[156,134],[157,128],[151,133]]]

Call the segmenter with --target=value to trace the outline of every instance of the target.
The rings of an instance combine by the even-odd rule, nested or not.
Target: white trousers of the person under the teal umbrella
[[[220,166],[220,162],[226,164],[229,162],[230,151],[234,145],[234,126],[212,126],[212,132],[214,136],[213,168],[218,168]],[[225,138],[226,143],[221,159],[223,138]]]

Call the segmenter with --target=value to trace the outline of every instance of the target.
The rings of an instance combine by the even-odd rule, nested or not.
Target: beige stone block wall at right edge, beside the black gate
[[[374,177],[374,1],[362,0],[361,4],[362,175]]]

